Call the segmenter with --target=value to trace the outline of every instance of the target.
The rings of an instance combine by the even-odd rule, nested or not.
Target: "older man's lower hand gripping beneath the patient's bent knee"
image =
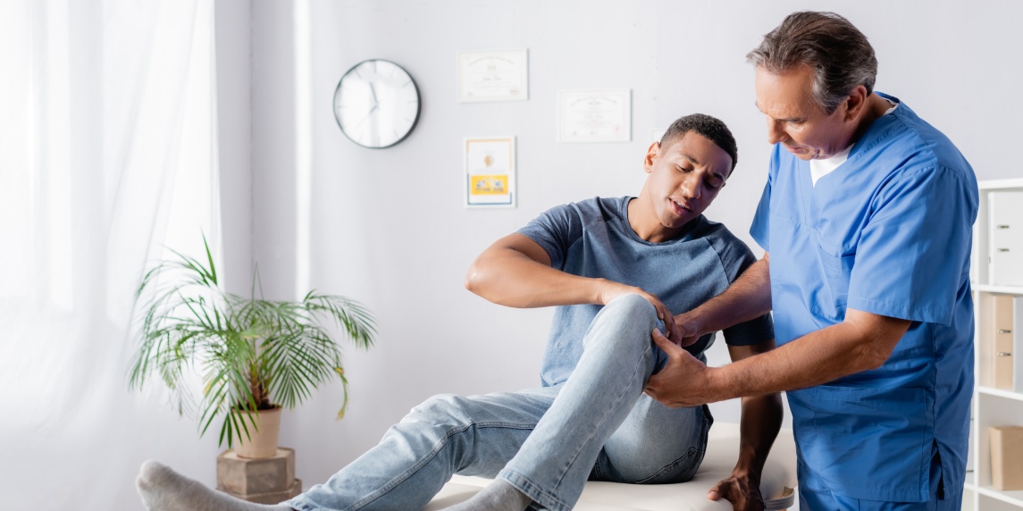
[[[709,392],[713,368],[668,340],[658,330],[654,330],[652,336],[658,347],[668,356],[668,363],[650,377],[643,392],[671,408],[695,407],[718,401]]]

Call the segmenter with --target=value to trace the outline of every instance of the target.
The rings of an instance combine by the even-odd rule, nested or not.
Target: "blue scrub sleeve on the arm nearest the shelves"
[[[849,309],[949,325],[969,278],[977,192],[960,171],[906,170],[871,202],[856,246]]]

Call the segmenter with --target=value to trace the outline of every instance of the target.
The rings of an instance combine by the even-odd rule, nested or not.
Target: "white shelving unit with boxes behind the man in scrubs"
[[[976,377],[973,394],[973,420],[970,431],[970,462],[972,471],[967,473],[966,491],[963,497],[963,508],[977,511],[1021,511],[1023,510],[1023,490],[1006,492],[996,490],[991,478],[991,451],[988,427],[1005,425],[1023,425],[1023,371],[1019,361],[1014,361],[1015,381],[1009,388],[996,388],[995,376],[992,374],[997,353],[994,349],[993,308],[996,299],[1019,297],[1023,299],[1023,283],[1000,282],[999,275],[1004,273],[991,270],[992,258],[998,258],[996,264],[1005,265],[1007,258],[1011,264],[1023,267],[1023,252],[992,246],[992,238],[1002,236],[1008,231],[998,231],[1002,222],[992,220],[992,215],[1000,215],[1004,210],[992,213],[994,200],[992,193],[1021,192],[1023,197],[1023,179],[1002,179],[981,181],[980,203],[977,223],[974,226],[973,262],[971,277],[973,281],[974,310],[976,314],[976,330],[974,332],[974,347],[976,349],[974,373]],[[1011,195],[996,195],[998,201]],[[999,207],[1004,205],[999,203]],[[1023,201],[1019,204],[1023,207]],[[1017,230],[1023,231],[1023,216],[1014,224],[1019,224]],[[1023,238],[1023,232],[1019,234]],[[997,243],[994,243],[997,244]],[[1023,357],[1023,321],[1014,325],[1018,332],[1013,333],[1013,359]],[[1003,331],[1003,334],[1005,332]],[[1002,385],[1005,387],[1005,383]],[[1023,460],[1020,460],[1023,463]]]

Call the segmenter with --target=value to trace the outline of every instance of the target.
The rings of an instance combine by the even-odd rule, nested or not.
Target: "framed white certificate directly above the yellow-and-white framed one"
[[[529,99],[526,50],[458,52],[458,101],[526,99]]]

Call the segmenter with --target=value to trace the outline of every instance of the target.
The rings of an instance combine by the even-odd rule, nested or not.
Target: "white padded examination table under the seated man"
[[[588,481],[575,509],[580,511],[686,511],[731,509],[727,501],[709,501],[707,492],[719,480],[731,474],[739,458],[739,424],[717,422],[711,427],[707,454],[696,476],[677,484],[625,484],[621,482]],[[426,511],[444,509],[469,500],[490,479],[455,475],[444,485]],[[760,493],[767,509],[787,509],[795,500],[796,446],[792,430],[779,433],[770,456],[764,465]]]

